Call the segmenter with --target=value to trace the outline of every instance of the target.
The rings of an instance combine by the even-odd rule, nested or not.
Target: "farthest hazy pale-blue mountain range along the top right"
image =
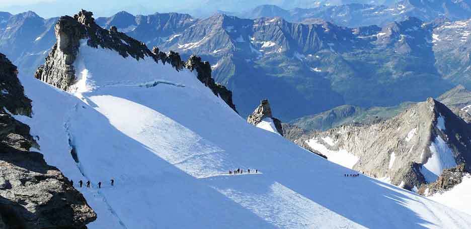
[[[471,1],[393,1],[382,4],[352,1],[344,5],[321,4],[316,8],[291,10],[275,5],[262,5],[243,13],[224,13],[251,19],[282,17],[289,22],[304,24],[315,23],[317,19],[322,19],[346,27],[384,26],[394,21],[404,21],[408,17],[416,17],[422,21],[433,21],[436,18],[454,21],[471,17]]]

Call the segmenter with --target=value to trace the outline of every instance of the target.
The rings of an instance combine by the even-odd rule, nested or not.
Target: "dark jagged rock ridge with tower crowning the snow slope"
[[[196,69],[198,79],[215,95],[220,96],[233,110],[236,110],[236,106],[232,102],[232,93],[224,86],[214,82],[209,63],[201,62],[201,57],[192,56],[187,62],[184,62],[177,52],[164,53],[159,51],[157,47],[150,51],[143,42],[119,32],[115,26],[111,26],[109,30],[101,28],[95,23],[93,13],[85,10],[73,17],[61,17],[55,25],[55,35],[57,43],[46,57],[46,63],[36,71],[35,77],[62,90],[68,90],[76,81],[73,62],[81,42],[86,40],[90,47],[115,50],[124,58],[130,56],[139,60],[150,57],[156,63],[159,63],[160,60],[163,64],[171,64],[176,71],[185,67],[190,70]]]

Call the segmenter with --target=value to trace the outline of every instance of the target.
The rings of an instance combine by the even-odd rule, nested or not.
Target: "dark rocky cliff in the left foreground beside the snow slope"
[[[0,54],[0,228],[86,228],[97,215],[43,155],[30,128],[12,115],[32,115],[18,69]]]

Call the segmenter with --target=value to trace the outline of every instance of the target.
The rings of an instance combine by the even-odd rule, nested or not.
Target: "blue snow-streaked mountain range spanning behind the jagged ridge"
[[[343,7],[352,6],[357,5]],[[0,17],[0,51],[22,74],[32,75],[55,42],[57,19],[33,12]],[[263,98],[276,107],[274,116],[287,122],[344,104],[396,106],[437,97],[457,84],[471,87],[469,21],[405,17],[382,27],[347,28],[319,19],[304,24],[279,17],[196,19],[126,12],[96,21],[106,29],[116,26],[149,48],[174,50],[185,59],[202,56],[215,80],[233,91],[243,117]]]

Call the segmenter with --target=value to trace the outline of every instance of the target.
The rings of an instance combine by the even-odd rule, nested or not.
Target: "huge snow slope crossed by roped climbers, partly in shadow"
[[[89,228],[471,227],[467,214],[347,179],[350,169],[247,124],[189,71],[87,46],[79,53],[85,84],[73,94],[21,76],[34,115],[17,118],[49,164],[75,184],[92,181],[77,187],[98,214]],[[237,168],[262,174],[227,175]]]

